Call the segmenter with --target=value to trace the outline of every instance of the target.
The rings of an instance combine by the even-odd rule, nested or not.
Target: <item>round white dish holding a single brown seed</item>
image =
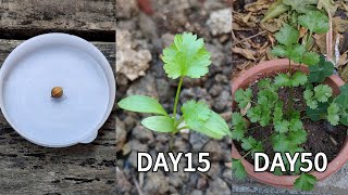
[[[51,98],[62,87],[61,99]],[[115,79],[103,54],[88,41],[46,34],[15,48],[0,69],[0,106],[9,123],[42,146],[89,143],[108,119]]]

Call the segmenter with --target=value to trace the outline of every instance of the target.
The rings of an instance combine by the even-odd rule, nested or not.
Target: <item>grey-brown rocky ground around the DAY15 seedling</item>
[[[116,101],[130,94],[146,94],[160,100],[172,112],[177,80],[170,80],[160,60],[162,50],[174,35],[198,34],[212,53],[208,76],[185,79],[181,102],[207,102],[231,123],[231,9],[225,0],[150,1],[151,16],[139,11],[136,0],[117,0],[116,8]],[[211,169],[207,173],[136,171],[137,152],[169,151],[170,135],[145,129],[145,115],[117,108],[116,188],[120,194],[231,194],[231,140],[211,140],[190,131],[175,136],[174,150],[210,152]],[[194,159],[194,161],[196,161]],[[196,165],[197,166],[197,165]],[[186,161],[181,161],[181,168]]]

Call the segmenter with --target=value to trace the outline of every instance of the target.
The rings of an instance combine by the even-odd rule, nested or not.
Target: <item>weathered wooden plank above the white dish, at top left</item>
[[[0,0],[0,38],[72,31],[110,41],[115,21],[115,0]]]

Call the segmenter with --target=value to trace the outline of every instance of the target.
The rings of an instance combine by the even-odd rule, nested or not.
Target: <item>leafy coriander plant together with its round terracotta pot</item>
[[[300,28],[307,30],[301,38]],[[256,65],[232,81],[232,155],[237,178],[248,173],[273,186],[310,191],[318,180],[347,162],[348,84],[334,75],[332,62],[311,51],[312,35],[328,29],[323,12],[299,13],[275,34],[277,46],[272,53],[284,58]],[[327,150],[327,145],[335,150]],[[286,171],[254,172],[256,152],[271,157],[279,152]],[[323,152],[328,158],[327,169],[301,172],[299,168],[306,165],[298,158],[295,171],[290,171],[286,152]]]

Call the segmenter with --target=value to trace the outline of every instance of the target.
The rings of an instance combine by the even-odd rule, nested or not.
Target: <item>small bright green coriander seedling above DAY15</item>
[[[209,109],[203,102],[191,100],[184,103],[181,106],[182,116],[176,117],[184,77],[200,78],[209,72],[210,53],[203,39],[197,39],[191,32],[176,35],[174,42],[163,50],[162,61],[167,77],[178,79],[173,115],[170,115],[158,100],[150,96],[132,95],[120,101],[117,105],[130,112],[156,114],[141,121],[142,126],[152,131],[175,134],[183,129],[190,129],[213,139],[229,135],[231,131],[225,120]]]

